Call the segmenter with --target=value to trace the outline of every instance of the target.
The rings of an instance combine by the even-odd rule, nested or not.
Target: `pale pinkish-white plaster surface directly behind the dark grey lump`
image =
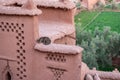
[[[55,21],[44,21],[39,26],[39,35],[49,37],[52,42],[74,32],[75,28],[73,25]]]

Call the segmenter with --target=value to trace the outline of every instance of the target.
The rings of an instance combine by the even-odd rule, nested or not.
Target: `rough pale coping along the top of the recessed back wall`
[[[18,4],[24,4],[26,0],[18,0]],[[60,0],[33,0],[33,2],[37,6],[43,7],[54,7],[54,8],[65,8],[65,9],[73,9],[75,8],[75,4],[70,0],[64,0],[64,2]]]

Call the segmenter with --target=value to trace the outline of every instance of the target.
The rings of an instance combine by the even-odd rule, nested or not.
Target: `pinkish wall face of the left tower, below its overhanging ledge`
[[[36,17],[32,16],[0,15],[0,56],[17,61],[9,62],[13,80],[30,80],[33,76],[34,22]],[[0,80],[6,65],[0,60]]]

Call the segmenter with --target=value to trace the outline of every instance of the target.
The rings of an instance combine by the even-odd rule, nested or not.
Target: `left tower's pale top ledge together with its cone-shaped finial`
[[[1,1],[0,1],[1,2]],[[9,3],[9,5],[0,5],[0,14],[6,15],[39,15],[42,13],[41,10],[35,8],[34,3],[32,1],[27,1],[24,3],[22,7],[10,6],[10,4],[15,3],[15,1]]]

